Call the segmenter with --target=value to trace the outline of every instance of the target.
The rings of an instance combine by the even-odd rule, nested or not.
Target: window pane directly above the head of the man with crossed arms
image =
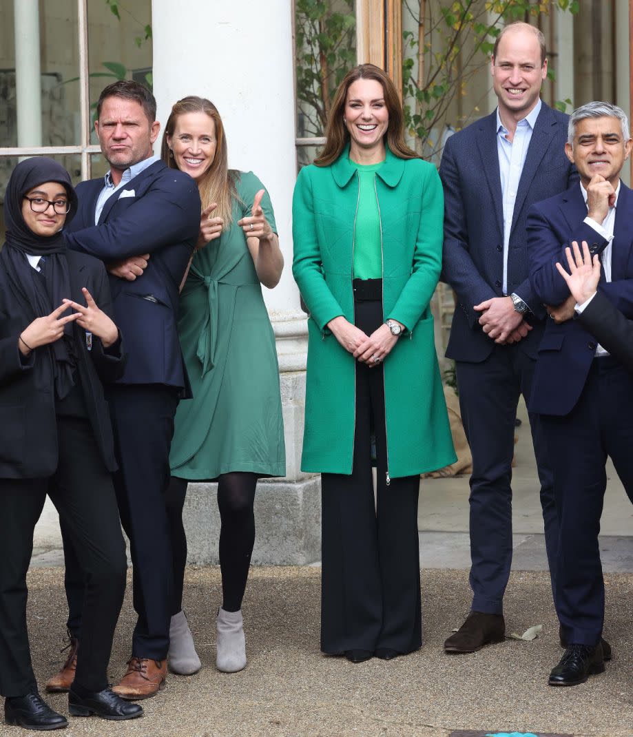
[[[102,89],[116,80],[136,80],[152,88],[152,2],[88,3],[88,70],[91,116]],[[112,8],[116,8],[116,13]],[[91,143],[98,144],[92,127]]]

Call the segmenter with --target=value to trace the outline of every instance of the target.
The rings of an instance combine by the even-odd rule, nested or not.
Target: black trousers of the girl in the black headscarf
[[[87,420],[57,419],[59,463],[50,479],[0,479],[0,694],[37,688],[27,632],[27,570],[33,529],[48,492],[79,553],[85,584],[75,680],[108,685],[106,668],[125,592],[125,544],[110,473]],[[37,453],[37,448],[33,448]]]

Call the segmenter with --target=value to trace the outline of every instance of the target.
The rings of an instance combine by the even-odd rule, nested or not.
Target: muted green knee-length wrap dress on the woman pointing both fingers
[[[193,399],[178,405],[169,463],[189,481],[286,472],[275,336],[237,225],[265,188],[253,172],[240,172],[236,186],[231,227],[196,252],[181,293],[178,333]],[[262,209],[276,232],[267,192]]]

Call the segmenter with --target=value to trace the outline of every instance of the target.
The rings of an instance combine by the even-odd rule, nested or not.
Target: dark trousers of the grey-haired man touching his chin
[[[559,551],[556,610],[569,643],[595,645],[604,624],[598,533],[610,455],[633,502],[633,377],[612,357],[595,358],[573,410],[542,415],[554,471]]]

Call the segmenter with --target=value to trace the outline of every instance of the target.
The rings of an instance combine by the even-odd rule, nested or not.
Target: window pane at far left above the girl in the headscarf
[[[15,18],[13,0],[0,0],[0,147],[76,145],[79,85],[70,80],[79,75],[77,2],[19,7]]]

